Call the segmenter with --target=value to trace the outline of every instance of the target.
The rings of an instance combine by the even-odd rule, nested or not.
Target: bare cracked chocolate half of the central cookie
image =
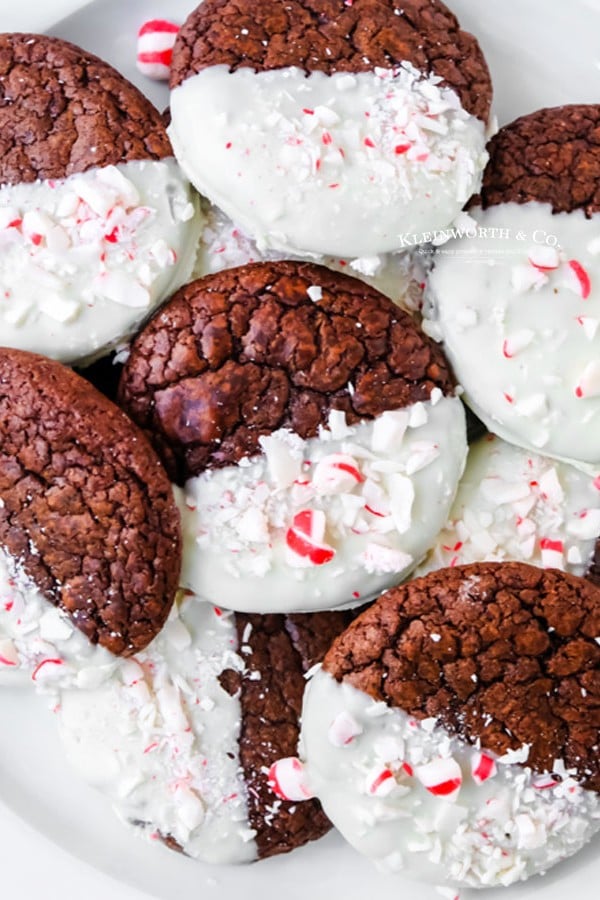
[[[134,342],[119,401],[180,482],[252,456],[279,428],[315,437],[331,410],[354,424],[453,385],[382,294],[321,266],[257,263],[182,288]]]

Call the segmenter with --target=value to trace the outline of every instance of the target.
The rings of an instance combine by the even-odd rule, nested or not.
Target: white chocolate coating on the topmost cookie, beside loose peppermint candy
[[[184,172],[261,250],[370,257],[449,225],[485,126],[409,63],[358,74],[210,66],[171,92]]]

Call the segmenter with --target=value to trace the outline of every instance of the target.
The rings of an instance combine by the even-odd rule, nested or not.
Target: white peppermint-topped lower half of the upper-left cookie
[[[187,281],[202,225],[173,158],[0,188],[2,344],[108,353]]]

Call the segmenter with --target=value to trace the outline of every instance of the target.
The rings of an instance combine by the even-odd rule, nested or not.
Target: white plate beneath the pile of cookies
[[[35,10],[35,0],[28,2]],[[487,55],[501,124],[541,106],[600,100],[600,0],[450,2],[463,26],[478,36]],[[52,33],[112,62],[162,109],[168,99],[164,86],[143,79],[135,70],[136,31],[152,17],[182,21],[193,5],[193,0],[104,0],[56,24]],[[47,21],[47,7],[39,15],[38,27],[42,27],[44,19]],[[32,18],[31,27],[35,26]],[[46,900],[81,896],[81,886],[86,884],[94,897],[109,896],[111,900],[117,895],[119,900],[141,897],[135,888],[157,900],[237,900],[240,895],[247,900],[275,896],[286,900],[304,900],[307,896],[314,900],[364,900],[365,896],[376,900],[435,900],[440,896],[433,887],[379,875],[342,846],[336,835],[288,857],[229,869],[210,869],[161,847],[151,847],[122,828],[103,798],[77,781],[63,760],[52,714],[40,698],[27,691],[4,690],[0,710],[4,723],[0,729],[0,883],[12,900],[31,900],[32,889],[25,885],[34,882],[45,885]],[[18,824],[15,815],[35,832]],[[41,836],[61,849],[49,853],[49,845]],[[63,851],[75,859],[69,860]],[[505,891],[478,892],[477,896],[481,900],[492,896],[564,900],[570,893],[578,900],[592,900],[598,896],[600,881],[597,851],[596,842],[543,879]],[[13,853],[20,854],[31,871],[19,870],[19,881],[9,879],[7,883],[6,872],[14,879],[18,868],[12,864]],[[57,884],[53,877],[56,872],[49,872],[43,865],[36,873],[38,861],[52,865],[49,859],[55,860],[56,872],[69,879],[69,886]],[[86,869],[81,861],[93,868]],[[111,888],[106,875],[116,878],[119,885],[113,882]],[[89,898],[89,891],[86,893]],[[467,895],[471,892],[464,892],[463,900]]]

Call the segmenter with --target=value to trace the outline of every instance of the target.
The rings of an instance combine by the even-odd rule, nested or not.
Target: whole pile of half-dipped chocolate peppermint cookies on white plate
[[[600,108],[488,143],[438,0],[204,0],[170,86],[0,36],[0,682],[190,857],[544,872],[600,828]]]

